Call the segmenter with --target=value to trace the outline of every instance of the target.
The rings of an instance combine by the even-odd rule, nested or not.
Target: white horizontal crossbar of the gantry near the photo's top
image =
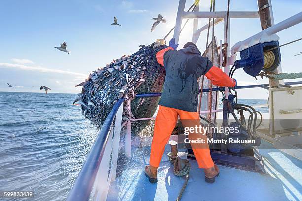
[[[227,16],[226,11],[217,12],[183,12],[183,19],[185,18],[225,18]],[[258,11],[230,11],[229,18],[258,18]]]

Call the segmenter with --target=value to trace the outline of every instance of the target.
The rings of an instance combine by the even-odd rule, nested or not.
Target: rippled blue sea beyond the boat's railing
[[[98,129],[84,120],[76,94],[0,92],[0,193],[34,197],[0,201],[64,201]],[[267,100],[238,99],[268,113]]]

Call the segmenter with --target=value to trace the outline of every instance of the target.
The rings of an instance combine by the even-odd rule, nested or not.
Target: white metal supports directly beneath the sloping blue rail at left
[[[93,186],[93,201],[106,201],[110,182],[115,180],[122,116],[123,104],[119,107],[115,116],[114,136],[112,125],[109,131],[104,155]]]

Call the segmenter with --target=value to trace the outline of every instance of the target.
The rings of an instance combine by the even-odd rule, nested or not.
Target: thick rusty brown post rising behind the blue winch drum
[[[259,18],[260,18],[260,23],[261,23],[261,29],[267,29],[272,26],[271,22],[271,14],[270,14],[270,9],[269,9],[269,0],[257,0],[258,1],[258,8],[259,8]],[[273,71],[274,73],[278,74],[278,69],[275,69]],[[269,86],[280,86],[278,80],[272,80],[268,79],[269,81]]]

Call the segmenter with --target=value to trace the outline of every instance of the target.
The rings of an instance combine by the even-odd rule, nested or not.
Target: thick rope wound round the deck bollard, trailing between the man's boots
[[[189,156],[191,156],[192,154],[187,154],[187,155],[189,155]],[[194,156],[194,155],[192,155],[192,156]],[[182,198],[182,195],[183,195],[183,193],[184,193],[184,191],[185,191],[185,189],[186,189],[186,186],[187,186],[187,184],[188,184],[188,180],[189,180],[189,171],[190,171],[190,169],[191,169],[191,164],[190,164],[190,162],[189,162],[189,160],[187,159],[186,160],[186,165],[185,165],[185,167],[182,169],[182,170],[178,170],[178,163],[177,163],[177,161],[178,161],[178,158],[177,158],[177,156],[172,156],[172,153],[171,152],[169,152],[168,153],[168,157],[169,157],[169,161],[173,164],[173,172],[174,172],[174,174],[176,175],[176,176],[185,176],[186,175],[186,180],[185,180],[185,183],[183,184],[183,186],[182,186],[182,189],[180,190],[180,192],[179,192],[179,194],[178,194],[178,196],[177,196],[177,199],[176,199],[176,201],[180,201],[180,199]]]

